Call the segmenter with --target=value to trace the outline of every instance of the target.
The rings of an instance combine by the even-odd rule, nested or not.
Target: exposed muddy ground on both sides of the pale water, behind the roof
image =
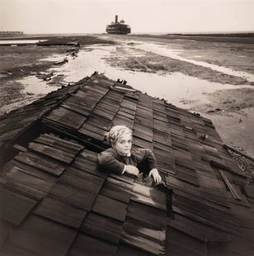
[[[101,35],[100,35],[101,36]],[[230,69],[254,74],[254,44],[239,40],[216,42],[214,40],[181,40],[140,37],[140,36],[104,36],[107,40],[135,40],[156,42],[167,45],[172,50],[181,50],[179,55],[209,64],[216,64]],[[66,55],[68,46],[0,46],[0,114],[7,111],[10,102],[32,97],[22,94],[21,84],[16,79],[31,73],[46,71],[53,66],[53,61],[42,61],[52,55]],[[249,88],[232,88],[214,93],[204,93],[205,102],[183,99],[190,111],[200,112],[214,123],[225,144],[237,146],[254,157],[254,87],[253,82],[245,78],[220,73],[209,68],[171,59],[146,52],[142,56],[129,55],[119,51],[106,61],[122,69],[139,70],[148,73],[180,72],[204,81],[221,84],[249,86]],[[204,82],[205,83],[205,82]]]

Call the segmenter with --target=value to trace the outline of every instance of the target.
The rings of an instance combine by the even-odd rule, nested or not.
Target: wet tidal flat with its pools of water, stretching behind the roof
[[[65,46],[40,46],[41,49],[38,46],[35,49],[31,47],[36,46],[22,46],[9,47],[8,50],[4,49],[5,46],[0,46],[1,113],[46,93],[47,90],[40,89],[39,92],[31,91],[34,95],[30,91],[24,91],[26,83],[20,83],[19,79],[32,79],[31,73],[56,73],[55,83],[40,80],[38,88],[48,87],[50,91],[63,85],[58,79],[60,82],[76,82],[96,70],[112,79],[125,79],[134,88],[147,91],[153,96],[164,97],[176,106],[200,112],[214,122],[225,144],[238,146],[254,156],[254,88],[252,79],[247,78],[248,73],[254,74],[253,44],[241,43],[241,39],[236,43],[143,36],[99,36],[103,40],[115,40],[120,45],[83,45],[77,59],[70,58],[68,64],[60,67],[55,67],[54,61],[55,58],[63,59],[66,55]],[[157,45],[155,50],[161,52],[140,47],[145,44],[149,47]],[[29,50],[31,55],[23,53]],[[176,55],[176,59],[167,55],[167,50]],[[47,59],[50,56],[54,56],[54,61]],[[7,62],[2,62],[2,58]],[[196,64],[195,61],[240,73],[233,75],[234,71],[233,74],[220,72],[209,66]],[[7,71],[12,74],[6,73]],[[64,77],[60,78],[60,74],[64,74]],[[32,77],[35,78],[35,75]],[[27,84],[29,83],[35,82],[29,80]],[[151,84],[156,84],[156,88]],[[165,87],[168,88],[167,92],[161,93]]]

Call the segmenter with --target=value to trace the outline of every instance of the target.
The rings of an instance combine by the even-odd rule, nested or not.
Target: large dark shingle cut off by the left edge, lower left
[[[20,225],[29,215],[37,201],[0,187],[0,218],[14,225]]]

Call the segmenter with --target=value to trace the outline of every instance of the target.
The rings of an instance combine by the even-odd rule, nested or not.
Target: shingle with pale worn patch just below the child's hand
[[[164,211],[167,210],[166,196],[154,188],[134,183],[131,200],[139,201],[145,205],[153,206]]]

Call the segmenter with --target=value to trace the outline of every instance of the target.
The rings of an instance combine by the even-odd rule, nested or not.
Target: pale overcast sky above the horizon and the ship
[[[254,31],[254,0],[0,0],[0,31],[103,33],[115,14],[133,33]]]

